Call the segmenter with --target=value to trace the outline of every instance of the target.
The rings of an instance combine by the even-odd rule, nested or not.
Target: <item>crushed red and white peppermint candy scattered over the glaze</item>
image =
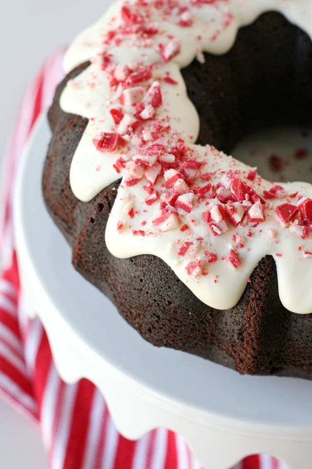
[[[228,161],[210,145],[199,147],[195,131],[183,133],[184,126],[177,126],[180,121],[183,124],[184,116],[171,101],[178,95],[183,98],[184,83],[176,64],[184,60],[184,37],[191,34],[193,58],[203,64],[205,28],[196,30],[202,24],[202,9],[217,11],[218,24],[211,21],[208,27],[205,23],[211,43],[235,22],[231,5],[219,9],[218,3],[123,1],[119,13],[108,22],[108,30],[101,31],[101,49],[89,67],[93,75],[88,93],[97,86],[99,73],[108,86],[101,103],[106,113],[101,109],[100,118],[89,119],[92,157],[96,153],[98,168],[101,158],[109,158],[115,180],[121,180],[117,198],[123,214],[115,215],[114,204],[111,237],[130,234],[133,245],[165,239],[161,255],[171,253],[172,266],[181,266],[180,277],[185,280],[187,276],[186,283],[207,276],[210,283],[221,284],[220,272],[227,269],[229,275],[239,277],[257,243],[266,244],[278,262],[278,257],[287,254],[283,235],[293,239],[296,252],[298,242],[302,243],[301,262],[302,256],[312,256],[308,245],[312,240],[311,190],[265,181],[255,168]],[[174,27],[167,31],[166,23]],[[129,53],[127,64],[120,60],[122,47]],[[71,80],[69,88],[79,93],[78,80]],[[307,153],[299,149],[294,159],[306,158]],[[270,164],[280,171],[284,161],[273,154]]]

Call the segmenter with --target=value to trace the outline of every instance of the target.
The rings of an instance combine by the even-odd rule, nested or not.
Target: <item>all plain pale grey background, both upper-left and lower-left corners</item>
[[[109,0],[15,0],[0,21],[0,168],[23,92],[44,59],[104,13]],[[2,170],[3,171],[3,170]],[[0,467],[46,469],[38,428],[0,398]]]

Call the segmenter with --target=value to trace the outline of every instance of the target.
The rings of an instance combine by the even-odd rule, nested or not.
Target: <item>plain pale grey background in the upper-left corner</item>
[[[0,158],[26,85],[43,60],[104,13],[109,0],[15,0],[0,21]]]

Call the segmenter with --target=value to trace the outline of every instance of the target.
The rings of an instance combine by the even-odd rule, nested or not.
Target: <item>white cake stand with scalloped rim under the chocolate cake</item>
[[[127,438],[170,428],[206,468],[226,469],[248,454],[269,453],[289,469],[311,469],[312,382],[240,376],[156,348],[74,271],[70,248],[41,196],[49,136],[43,117],[18,175],[15,234],[22,285],[48,334],[61,377],[96,384]]]

